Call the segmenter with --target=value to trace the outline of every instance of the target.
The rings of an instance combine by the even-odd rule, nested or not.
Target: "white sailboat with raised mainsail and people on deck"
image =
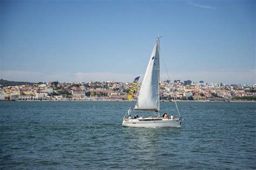
[[[149,64],[147,65],[146,73],[144,75],[142,86],[139,91],[138,101],[134,107],[134,110],[136,111],[153,112],[155,116],[138,116],[137,114],[137,116],[132,118],[130,108],[123,118],[123,126],[177,128],[181,127],[181,121],[183,121],[183,119],[181,119],[180,116],[160,117],[159,53],[160,47],[158,37],[156,44],[154,45],[153,52],[150,56]],[[127,114],[128,116],[126,116]]]

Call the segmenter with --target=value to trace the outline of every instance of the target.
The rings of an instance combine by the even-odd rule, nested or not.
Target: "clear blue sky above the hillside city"
[[[255,10],[247,0],[0,0],[0,79],[131,82],[159,35],[171,81],[253,85]]]

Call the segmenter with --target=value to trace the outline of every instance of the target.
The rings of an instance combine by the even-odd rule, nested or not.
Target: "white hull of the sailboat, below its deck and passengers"
[[[156,120],[154,120],[156,119]],[[125,127],[173,127],[173,128],[181,128],[181,119],[166,119],[166,118],[138,118],[131,120],[124,120],[123,126]],[[160,120],[159,120],[160,119]],[[151,121],[152,120],[152,121]]]

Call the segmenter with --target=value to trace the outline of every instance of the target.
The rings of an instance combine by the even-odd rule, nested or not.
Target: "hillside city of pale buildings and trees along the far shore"
[[[16,82],[17,83],[17,82]],[[17,83],[16,86],[0,84],[0,100],[100,100],[125,101],[131,83],[123,82],[39,82]],[[133,100],[138,98],[138,83]],[[256,87],[241,84],[192,82],[174,80],[160,82],[160,100],[172,101],[255,101]]]

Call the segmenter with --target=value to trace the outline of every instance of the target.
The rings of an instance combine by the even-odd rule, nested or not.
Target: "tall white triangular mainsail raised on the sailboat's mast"
[[[159,38],[147,65],[134,110],[159,111]]]

